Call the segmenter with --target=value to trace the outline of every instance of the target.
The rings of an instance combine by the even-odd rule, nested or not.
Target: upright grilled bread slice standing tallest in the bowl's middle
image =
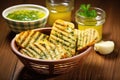
[[[67,50],[67,56],[71,57],[76,52],[76,38],[77,35],[73,23],[56,20],[53,24],[49,40],[56,45],[63,46]]]

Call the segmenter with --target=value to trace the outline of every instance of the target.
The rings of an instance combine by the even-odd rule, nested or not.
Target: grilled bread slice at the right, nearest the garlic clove
[[[93,28],[78,30],[77,51],[83,50],[93,45],[99,40],[98,31]]]

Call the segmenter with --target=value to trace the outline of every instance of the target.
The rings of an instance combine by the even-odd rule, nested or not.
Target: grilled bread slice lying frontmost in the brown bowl
[[[66,55],[63,47],[54,45],[47,40],[30,44],[25,49],[21,49],[20,52],[24,55],[44,60],[58,60],[65,58]]]

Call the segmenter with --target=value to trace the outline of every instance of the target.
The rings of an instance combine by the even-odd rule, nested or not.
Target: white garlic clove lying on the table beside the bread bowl
[[[113,41],[101,41],[94,45],[94,50],[101,54],[110,54],[114,50]]]

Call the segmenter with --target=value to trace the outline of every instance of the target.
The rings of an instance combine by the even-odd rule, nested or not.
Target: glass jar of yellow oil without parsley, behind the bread
[[[74,0],[46,0],[46,7],[50,11],[48,25],[52,26],[55,20],[71,21]]]

